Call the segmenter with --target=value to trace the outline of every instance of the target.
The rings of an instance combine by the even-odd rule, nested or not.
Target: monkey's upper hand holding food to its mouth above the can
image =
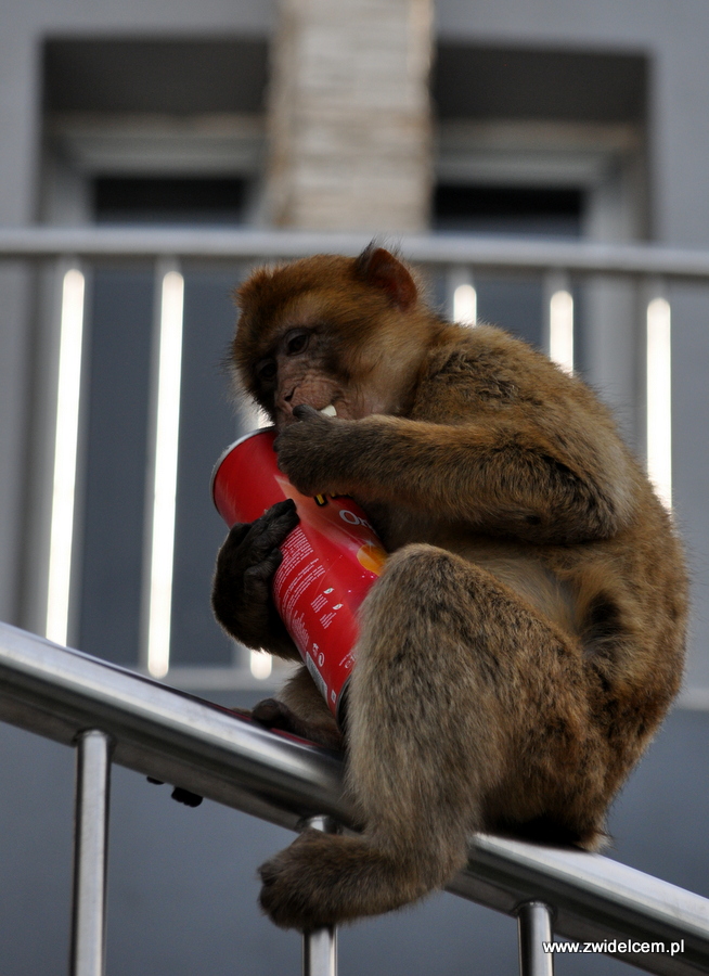
[[[352,421],[323,416],[312,407],[296,407],[289,424],[273,444],[279,467],[302,495],[345,495],[343,448]],[[337,483],[335,483],[337,475]]]

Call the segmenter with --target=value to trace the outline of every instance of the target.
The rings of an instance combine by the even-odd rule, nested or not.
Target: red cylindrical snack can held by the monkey
[[[308,498],[279,471],[272,427],[240,438],[211,478],[217,511],[230,527],[254,522],[292,498],[300,523],[281,550],[273,600],[308,671],[337,719],[352,670],[357,611],[387,554],[366,515],[348,496]]]

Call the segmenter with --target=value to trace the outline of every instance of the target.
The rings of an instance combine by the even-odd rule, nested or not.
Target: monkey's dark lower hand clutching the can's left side
[[[233,526],[217,556],[211,591],[224,630],[247,647],[287,658],[298,652],[275,609],[271,579],[283,560],[279,547],[298,522],[295,502],[286,499],[256,522]]]

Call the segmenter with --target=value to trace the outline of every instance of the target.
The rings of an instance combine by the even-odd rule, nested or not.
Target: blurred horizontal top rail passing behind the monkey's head
[[[363,233],[199,228],[0,228],[0,259],[51,257],[297,258],[318,252],[357,254]],[[657,244],[525,241],[464,234],[390,235],[409,260],[515,271],[564,269],[579,274],[709,279],[709,252]]]

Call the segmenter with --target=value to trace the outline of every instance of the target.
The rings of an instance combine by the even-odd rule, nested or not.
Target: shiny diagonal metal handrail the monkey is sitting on
[[[112,761],[282,826],[325,814],[357,829],[336,754],[7,624],[0,719],[82,749],[98,730]],[[709,900],[600,855],[476,835],[448,890],[512,915],[551,906],[554,932],[579,941],[683,941],[674,955],[619,958],[650,973],[709,973]]]

